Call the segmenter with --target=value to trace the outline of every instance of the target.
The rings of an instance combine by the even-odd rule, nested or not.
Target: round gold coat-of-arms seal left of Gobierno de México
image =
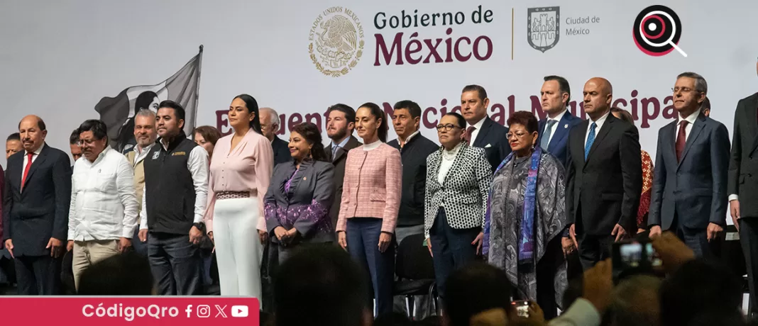
[[[319,14],[308,39],[311,60],[326,76],[346,75],[363,55],[361,20],[343,7],[332,7]]]

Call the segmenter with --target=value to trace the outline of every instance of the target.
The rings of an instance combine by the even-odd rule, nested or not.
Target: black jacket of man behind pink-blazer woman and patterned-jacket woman
[[[397,139],[387,144],[400,151],[402,160],[402,197],[397,226],[423,225],[426,159],[440,146],[421,133],[413,136],[402,148]]]

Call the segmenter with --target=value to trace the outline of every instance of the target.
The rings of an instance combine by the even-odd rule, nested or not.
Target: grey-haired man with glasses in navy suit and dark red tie
[[[658,132],[650,237],[678,235],[695,256],[713,258],[726,227],[729,132],[700,111],[708,84],[697,73],[681,73],[674,86],[678,119]]]

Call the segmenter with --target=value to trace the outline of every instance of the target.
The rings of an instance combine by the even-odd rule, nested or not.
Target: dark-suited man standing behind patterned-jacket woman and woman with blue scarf
[[[465,141],[471,146],[484,148],[494,173],[497,166],[511,153],[511,147],[506,137],[508,127],[495,123],[487,116],[489,106],[490,99],[487,98],[484,87],[467,85],[463,88],[461,115],[468,124]]]

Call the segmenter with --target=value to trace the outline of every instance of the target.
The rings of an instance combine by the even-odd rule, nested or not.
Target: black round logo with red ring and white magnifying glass
[[[632,38],[645,54],[660,57],[676,50],[684,57],[687,54],[679,48],[681,20],[669,7],[651,5],[644,8],[632,26]]]

